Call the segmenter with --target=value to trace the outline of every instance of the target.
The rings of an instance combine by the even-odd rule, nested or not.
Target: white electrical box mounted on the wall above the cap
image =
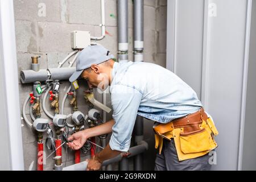
[[[72,49],[84,49],[90,45],[89,31],[73,31],[71,32],[71,47]]]

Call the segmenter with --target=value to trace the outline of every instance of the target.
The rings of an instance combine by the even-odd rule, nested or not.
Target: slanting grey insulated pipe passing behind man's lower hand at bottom
[[[135,146],[135,147],[131,147],[129,149],[129,153],[130,155],[127,156],[127,158],[131,158],[132,156],[135,156],[135,155],[138,155],[138,154],[141,154],[142,152],[144,152],[145,150],[148,149],[148,144],[147,142],[145,142],[144,140],[142,140],[138,146]],[[109,164],[113,164],[115,162],[119,162],[120,160],[123,159],[123,153],[115,156],[114,158],[112,159],[109,159],[109,160],[105,160],[103,163],[102,163],[102,166],[107,166]],[[64,167],[63,168],[63,171],[85,171],[86,167],[87,167],[87,162],[84,161],[84,162],[81,162],[81,163],[78,163],[78,164],[74,164],[74,165],[71,165],[71,166],[68,166],[68,167]]]

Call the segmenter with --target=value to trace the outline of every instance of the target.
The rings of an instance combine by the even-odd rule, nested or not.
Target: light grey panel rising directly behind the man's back
[[[204,0],[179,0],[176,7],[176,74],[200,98]]]

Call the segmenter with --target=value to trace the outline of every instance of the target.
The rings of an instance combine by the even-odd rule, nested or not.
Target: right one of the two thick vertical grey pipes
[[[134,61],[143,61],[143,40],[144,40],[144,2],[143,0],[134,0]],[[143,140],[143,117],[137,115],[134,126],[135,143]],[[130,157],[130,156],[129,156]],[[140,171],[143,168],[143,154],[134,158],[134,169]]]

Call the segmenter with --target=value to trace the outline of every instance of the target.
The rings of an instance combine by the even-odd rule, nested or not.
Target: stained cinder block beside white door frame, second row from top
[[[37,51],[35,23],[15,21],[16,50],[18,52]]]

